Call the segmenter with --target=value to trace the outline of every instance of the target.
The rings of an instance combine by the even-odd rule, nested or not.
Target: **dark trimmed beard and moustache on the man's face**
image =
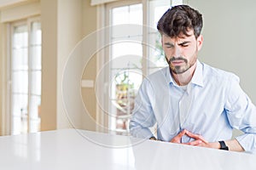
[[[195,53],[192,55],[192,60],[189,62],[188,59],[186,59],[185,57],[183,56],[179,56],[179,57],[174,57],[172,56],[171,59],[167,59],[166,57],[166,61],[170,67],[170,71],[174,74],[182,74],[186,71],[188,71],[193,65],[195,65],[196,63],[196,59],[197,59],[197,48],[195,50]],[[166,56],[166,55],[165,55]],[[185,65],[176,65],[176,66],[173,66],[172,65],[172,61],[176,61],[176,60],[183,60]]]

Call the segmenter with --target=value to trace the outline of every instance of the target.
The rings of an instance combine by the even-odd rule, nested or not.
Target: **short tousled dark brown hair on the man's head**
[[[179,37],[181,33],[189,36],[188,31],[192,29],[197,38],[201,34],[202,25],[202,15],[197,10],[188,5],[177,5],[163,14],[157,29],[169,37]]]

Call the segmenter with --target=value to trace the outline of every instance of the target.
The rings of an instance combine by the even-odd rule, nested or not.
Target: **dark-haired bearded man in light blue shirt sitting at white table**
[[[256,108],[236,75],[197,59],[202,17],[194,8],[170,8],[157,26],[169,67],[143,80],[131,117],[131,135],[222,150],[256,151]],[[243,134],[231,139],[233,128]]]

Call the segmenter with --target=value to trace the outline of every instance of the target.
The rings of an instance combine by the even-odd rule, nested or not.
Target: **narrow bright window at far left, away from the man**
[[[41,105],[41,24],[39,19],[13,23],[11,28],[11,134],[38,132]]]

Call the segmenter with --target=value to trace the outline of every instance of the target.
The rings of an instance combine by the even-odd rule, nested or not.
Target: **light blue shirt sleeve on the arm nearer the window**
[[[135,106],[129,126],[133,137],[149,139],[153,136],[153,133],[149,129],[155,123],[151,105],[152,99],[154,99],[154,90],[148,80],[144,79],[135,99]]]

